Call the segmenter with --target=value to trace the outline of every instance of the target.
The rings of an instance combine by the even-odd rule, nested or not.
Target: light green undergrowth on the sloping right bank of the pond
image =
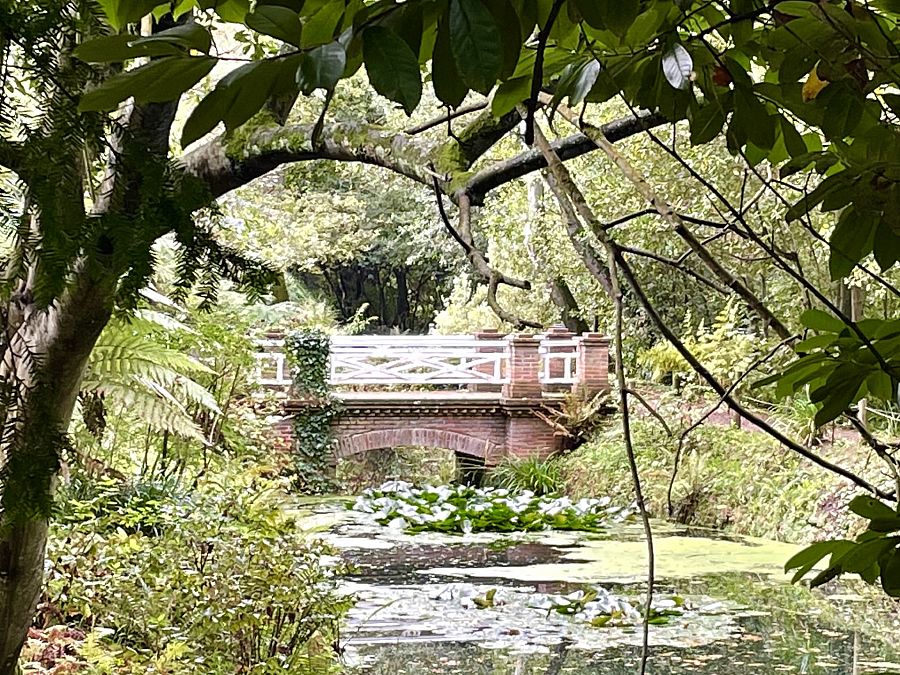
[[[676,444],[655,421],[636,419],[632,426],[648,507],[653,516],[667,517]],[[844,460],[853,455],[841,441],[830,453]],[[618,423],[555,462],[573,496],[632,494]],[[847,527],[837,513],[851,494],[835,476],[763,433],[707,425],[695,430],[684,446],[672,490],[672,518],[781,541],[811,541]]]

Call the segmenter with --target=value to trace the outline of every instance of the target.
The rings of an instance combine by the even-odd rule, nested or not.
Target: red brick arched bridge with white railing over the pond
[[[314,404],[290,393],[283,340],[258,344],[257,380],[288,392],[275,427],[293,443],[292,415]],[[608,390],[609,341],[559,327],[542,335],[333,337],[329,368],[340,402],[335,461],[425,446],[490,466],[559,448],[561,438],[538,413],[558,409],[568,392]]]

